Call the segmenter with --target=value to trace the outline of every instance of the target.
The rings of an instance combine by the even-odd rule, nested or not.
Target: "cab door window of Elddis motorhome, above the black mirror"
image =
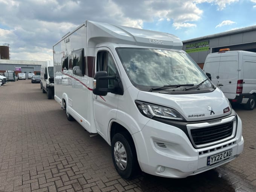
[[[116,75],[116,66],[109,52],[101,51],[97,54],[97,71],[106,71],[108,76]],[[114,87],[114,79],[108,80],[108,87]]]

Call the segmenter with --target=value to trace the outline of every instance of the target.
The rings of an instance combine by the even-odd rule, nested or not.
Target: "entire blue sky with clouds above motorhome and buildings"
[[[256,25],[256,0],[0,0],[0,45],[11,59],[52,60],[52,46],[85,20],[181,40]]]

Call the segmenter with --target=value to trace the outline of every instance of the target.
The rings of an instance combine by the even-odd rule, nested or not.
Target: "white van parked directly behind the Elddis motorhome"
[[[54,72],[53,64],[46,61],[41,65],[41,89],[43,93],[47,93],[47,98],[52,99],[54,95]]]

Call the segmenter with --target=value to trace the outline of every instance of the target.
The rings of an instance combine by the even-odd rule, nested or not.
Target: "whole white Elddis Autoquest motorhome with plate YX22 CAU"
[[[242,123],[171,34],[85,21],[53,46],[55,100],[100,134],[123,178],[195,175],[235,159]]]

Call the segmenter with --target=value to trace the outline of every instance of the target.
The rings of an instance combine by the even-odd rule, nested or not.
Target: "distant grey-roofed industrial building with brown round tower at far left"
[[[15,75],[25,73],[26,79],[29,73],[40,75],[41,65],[45,63],[45,61],[11,60],[10,58],[10,45],[5,43],[0,46],[0,73],[6,71],[14,71]]]

